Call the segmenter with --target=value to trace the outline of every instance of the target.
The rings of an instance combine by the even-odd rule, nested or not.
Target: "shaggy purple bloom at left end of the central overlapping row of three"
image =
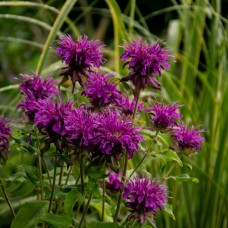
[[[60,104],[50,100],[40,100],[36,104],[35,125],[50,137],[61,137],[65,133],[64,117],[72,109],[72,102]]]

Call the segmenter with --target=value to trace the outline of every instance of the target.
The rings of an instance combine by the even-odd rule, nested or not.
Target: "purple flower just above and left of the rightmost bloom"
[[[177,112],[180,105],[172,103],[170,105],[161,105],[155,103],[149,109],[149,114],[152,115],[151,122],[159,130],[167,130],[176,125],[175,119],[181,119],[182,116]]]

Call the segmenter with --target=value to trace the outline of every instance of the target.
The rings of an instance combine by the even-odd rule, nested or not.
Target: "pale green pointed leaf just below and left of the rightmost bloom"
[[[155,159],[160,159],[165,164],[168,161],[176,161],[179,166],[183,167],[182,161],[178,157],[177,153],[173,150],[168,149],[159,153],[153,152],[152,155],[154,156]]]

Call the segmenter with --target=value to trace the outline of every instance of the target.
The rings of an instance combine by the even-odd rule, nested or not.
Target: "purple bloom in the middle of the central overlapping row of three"
[[[64,134],[75,147],[88,149],[94,137],[96,114],[82,107],[69,111],[64,118]],[[90,148],[89,148],[90,149]]]

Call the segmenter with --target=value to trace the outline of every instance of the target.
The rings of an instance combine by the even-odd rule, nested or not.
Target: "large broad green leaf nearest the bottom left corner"
[[[46,211],[48,202],[29,202],[24,204],[15,219],[13,220],[11,228],[29,228],[34,227],[39,220],[39,217]]]

